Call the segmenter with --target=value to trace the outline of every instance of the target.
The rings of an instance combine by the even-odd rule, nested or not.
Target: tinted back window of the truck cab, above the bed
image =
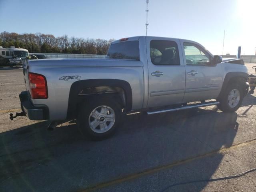
[[[139,41],[124,41],[111,44],[107,58],[140,60]]]

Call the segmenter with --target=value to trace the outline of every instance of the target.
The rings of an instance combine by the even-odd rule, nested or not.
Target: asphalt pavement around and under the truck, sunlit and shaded
[[[22,90],[22,69],[0,69],[0,191],[256,191],[256,171],[209,181],[256,168],[255,93],[234,113],[126,115],[112,138],[93,142],[74,121],[52,132],[48,121],[10,121]]]

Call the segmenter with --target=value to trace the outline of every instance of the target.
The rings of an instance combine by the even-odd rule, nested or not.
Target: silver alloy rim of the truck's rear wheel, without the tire
[[[105,133],[110,130],[115,120],[114,110],[106,105],[96,107],[88,118],[90,128],[96,133]]]

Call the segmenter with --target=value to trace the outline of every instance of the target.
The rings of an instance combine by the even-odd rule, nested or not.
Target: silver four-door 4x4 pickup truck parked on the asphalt
[[[27,60],[23,74],[24,115],[76,119],[93,139],[113,134],[122,114],[134,110],[156,114],[218,105],[234,112],[248,92],[243,60],[222,60],[197,42],[176,38],[122,38],[112,42],[106,59]]]

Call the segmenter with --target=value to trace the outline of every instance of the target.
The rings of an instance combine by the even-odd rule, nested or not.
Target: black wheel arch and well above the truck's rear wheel
[[[127,81],[118,79],[88,79],[78,80],[70,87],[66,119],[77,117],[81,102],[90,102],[90,99],[100,96],[114,97],[124,108],[132,109],[132,88]]]

